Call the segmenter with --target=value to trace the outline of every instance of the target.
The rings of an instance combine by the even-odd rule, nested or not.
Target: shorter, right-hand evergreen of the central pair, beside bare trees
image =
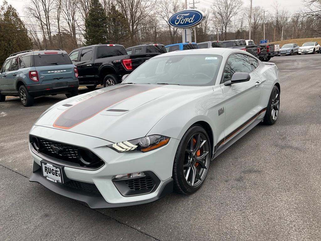
[[[119,12],[115,5],[108,10],[108,43],[122,44],[129,38],[129,26],[124,14]]]

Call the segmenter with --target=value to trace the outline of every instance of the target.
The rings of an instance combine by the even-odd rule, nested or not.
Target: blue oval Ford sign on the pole
[[[185,29],[200,24],[204,19],[205,14],[202,11],[186,9],[171,15],[168,22],[175,28]]]

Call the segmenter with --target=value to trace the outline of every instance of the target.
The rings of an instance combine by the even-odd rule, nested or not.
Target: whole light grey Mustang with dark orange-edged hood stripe
[[[278,118],[277,67],[242,50],[170,52],[124,77],[39,117],[29,137],[31,182],[91,208],[191,194],[211,160]]]

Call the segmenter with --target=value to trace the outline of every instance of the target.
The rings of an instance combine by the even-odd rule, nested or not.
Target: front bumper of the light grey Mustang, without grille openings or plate
[[[67,179],[95,185],[99,192],[76,190],[43,177],[40,161],[44,160],[56,165],[61,165],[61,162],[56,162],[55,159],[46,158],[40,154],[37,155],[32,149],[33,147],[29,145],[33,157],[33,173],[30,176],[30,182],[40,183],[53,192],[85,202],[91,208],[114,208],[153,202],[173,190],[172,167],[179,143],[179,140],[175,138],[171,138],[167,145],[150,152],[118,153],[106,147],[111,144],[109,141],[65,130],[33,126],[30,135],[48,139],[50,137],[52,141],[85,147],[104,161],[105,164],[95,170],[75,168],[70,165],[64,166],[64,174]],[[158,180],[158,186],[149,193],[124,196],[117,189],[113,178],[118,174],[134,172],[151,172]]]

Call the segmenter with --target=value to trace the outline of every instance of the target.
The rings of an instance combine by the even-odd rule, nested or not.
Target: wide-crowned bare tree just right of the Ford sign
[[[217,0],[213,3],[213,15],[218,24],[223,27],[224,40],[227,38],[227,27],[230,25],[230,21],[232,17],[237,15],[242,4],[242,0]]]

